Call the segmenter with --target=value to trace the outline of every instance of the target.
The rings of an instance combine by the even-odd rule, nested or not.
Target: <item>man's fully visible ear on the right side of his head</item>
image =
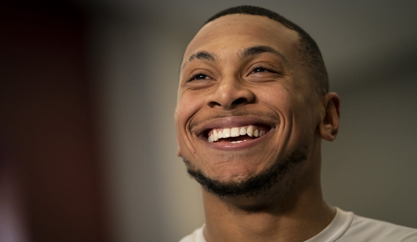
[[[323,139],[327,141],[333,141],[336,139],[337,131],[339,130],[339,96],[336,93],[327,93],[324,95],[323,106],[325,114],[319,124],[319,134]]]

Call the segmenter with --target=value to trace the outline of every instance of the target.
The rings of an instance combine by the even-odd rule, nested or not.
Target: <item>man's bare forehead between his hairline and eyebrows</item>
[[[281,23],[264,16],[231,14],[211,21],[191,40],[183,56],[183,63],[198,51],[214,52],[222,58],[229,52],[266,45],[286,56],[298,54],[298,34]]]

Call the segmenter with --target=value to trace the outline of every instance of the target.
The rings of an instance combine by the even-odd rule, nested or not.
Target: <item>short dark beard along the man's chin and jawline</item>
[[[304,145],[294,150],[291,154],[279,159],[272,166],[261,171],[259,174],[248,177],[241,181],[220,181],[209,177],[201,169],[193,169],[191,162],[183,158],[186,163],[188,174],[196,179],[208,192],[216,196],[246,198],[256,197],[262,194],[275,184],[278,184],[284,177],[293,171],[294,167],[307,160],[308,146]]]

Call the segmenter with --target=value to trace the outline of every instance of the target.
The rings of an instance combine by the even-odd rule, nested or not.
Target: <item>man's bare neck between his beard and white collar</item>
[[[332,221],[336,213],[322,198],[319,177],[287,179],[283,183],[291,185],[286,189],[280,185],[279,189],[272,188],[262,197],[249,199],[244,196],[219,198],[203,189],[204,237],[208,242],[295,242],[313,237]]]

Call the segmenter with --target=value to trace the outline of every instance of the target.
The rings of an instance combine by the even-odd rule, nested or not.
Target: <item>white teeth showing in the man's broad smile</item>
[[[250,137],[260,137],[265,135],[265,131],[254,126],[241,126],[241,127],[234,127],[234,128],[226,128],[226,129],[212,129],[208,133],[208,141],[215,142],[221,138],[229,138],[229,137],[237,137],[240,135],[249,135]],[[246,140],[243,140],[246,141]],[[240,141],[242,142],[242,141]],[[240,143],[237,141],[232,141],[231,143]]]

